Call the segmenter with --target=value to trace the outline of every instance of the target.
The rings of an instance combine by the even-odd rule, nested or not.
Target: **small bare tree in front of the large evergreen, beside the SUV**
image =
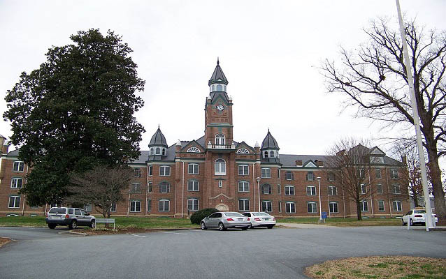
[[[94,167],[84,174],[72,173],[66,202],[93,204],[104,218],[110,218],[113,204],[122,202],[122,190],[128,188],[134,172],[131,167]],[[99,210],[100,209],[100,210]]]

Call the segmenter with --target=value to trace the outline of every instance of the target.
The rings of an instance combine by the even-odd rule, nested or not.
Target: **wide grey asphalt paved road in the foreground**
[[[365,255],[446,257],[446,232],[403,227],[199,229],[69,236],[0,228],[1,278],[305,278],[305,266]],[[14,238],[14,237],[13,237]]]

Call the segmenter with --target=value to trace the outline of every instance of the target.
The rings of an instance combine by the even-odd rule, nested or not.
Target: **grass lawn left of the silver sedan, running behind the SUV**
[[[96,216],[101,218],[101,216]],[[190,223],[189,219],[180,218],[156,218],[156,217],[115,217],[117,228],[136,227],[136,228],[191,228],[199,227]],[[46,227],[45,217],[20,216],[20,217],[0,217],[0,226],[2,227]],[[98,227],[103,224],[98,225]],[[113,225],[112,225],[113,227]]]

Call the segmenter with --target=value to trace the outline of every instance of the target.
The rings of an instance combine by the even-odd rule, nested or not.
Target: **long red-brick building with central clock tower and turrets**
[[[319,216],[319,183],[322,211],[334,217],[356,216],[356,206],[342,187],[333,186],[336,169],[329,156],[280,154],[270,131],[261,145],[250,146],[233,138],[233,101],[226,93],[228,80],[217,66],[208,82],[205,133],[192,141],[168,146],[161,129],[152,136],[147,151],[129,163],[134,181],[113,206],[115,216],[185,217],[213,207],[221,211],[268,211],[274,216]],[[27,165],[18,151],[7,152],[2,137],[0,166],[0,215],[43,214],[49,206],[31,208],[17,194],[26,183]],[[361,202],[363,216],[401,216],[410,209],[398,169],[404,165],[370,149],[376,172],[370,197]],[[379,173],[379,176],[378,176]],[[87,205],[87,210],[93,210]]]

